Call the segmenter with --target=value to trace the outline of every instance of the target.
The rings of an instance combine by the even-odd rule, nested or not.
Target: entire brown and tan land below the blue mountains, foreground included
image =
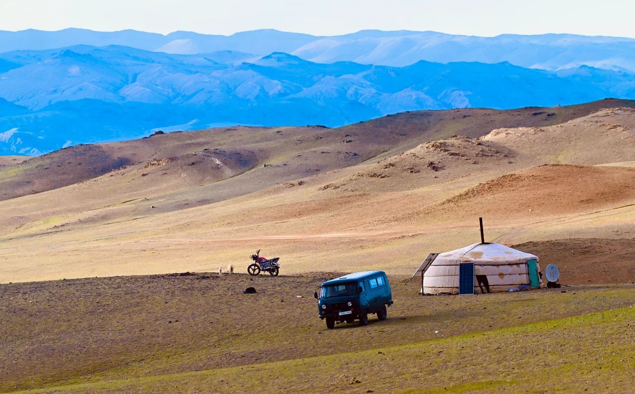
[[[0,390],[625,387],[633,107],[413,111],[2,156]],[[419,296],[412,272],[478,242],[479,216],[486,241],[558,264],[566,287]],[[244,273],[257,249],[281,257],[280,276]],[[389,277],[388,319],[324,329],[314,289],[368,269]]]

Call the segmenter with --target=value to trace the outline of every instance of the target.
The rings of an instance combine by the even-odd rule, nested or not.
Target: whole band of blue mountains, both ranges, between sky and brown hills
[[[419,60],[420,55],[411,53],[410,44],[415,45],[410,42],[412,38],[406,38],[413,36],[420,37],[417,48],[427,48],[424,52],[428,54],[432,47],[439,52],[443,45],[448,46],[443,50],[445,57],[437,58],[443,61]],[[421,37],[428,37],[427,41]],[[330,40],[331,50],[318,54],[315,48],[328,46],[324,40]],[[377,40],[397,40],[410,46],[399,44],[401,50],[391,47],[391,51],[384,47],[381,60]],[[423,49],[421,40],[427,43]],[[495,45],[507,50],[491,53],[489,60],[481,62],[447,61],[487,52],[483,49],[487,46],[477,45],[470,55],[465,48],[474,40],[495,40]],[[555,42],[559,48],[570,42],[570,56],[562,51],[560,55],[541,52],[544,45]],[[66,44],[73,45],[48,48]],[[507,109],[576,104],[605,97],[635,98],[635,72],[629,71],[629,57],[635,51],[615,49],[634,44],[635,40],[611,37],[486,39],[432,32],[366,31],[339,37],[277,31],[229,37],[77,29],[0,32],[0,50],[34,48],[0,53],[0,154],[41,154],[70,144],[141,137],[159,129],[235,124],[339,126],[418,109]],[[366,64],[365,60],[364,64],[332,61],[362,57],[364,48],[359,45],[367,47],[365,59],[395,64],[417,60],[399,67]],[[614,50],[612,63],[605,59],[601,65],[606,68],[577,65],[579,59],[575,60],[571,48],[585,45],[604,48],[603,53]],[[190,52],[214,51],[183,55],[147,50],[171,48],[174,52],[178,46],[188,46]],[[278,48],[323,62],[284,51],[254,54]],[[538,69],[535,64],[528,68],[494,62],[500,60],[497,57],[509,56],[531,63],[533,60],[527,62],[523,56],[528,48],[535,50],[535,60],[549,57],[552,65]],[[556,58],[561,61],[554,63]],[[575,67],[566,67],[572,64]]]

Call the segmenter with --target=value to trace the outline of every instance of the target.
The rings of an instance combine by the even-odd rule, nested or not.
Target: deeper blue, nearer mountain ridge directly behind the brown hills
[[[41,154],[154,130],[335,127],[422,109],[635,98],[635,72],[589,65],[548,71],[507,60],[417,60],[395,67],[312,62],[283,51],[180,55],[77,44],[0,53],[3,65],[0,133],[8,137],[0,141],[0,154]]]

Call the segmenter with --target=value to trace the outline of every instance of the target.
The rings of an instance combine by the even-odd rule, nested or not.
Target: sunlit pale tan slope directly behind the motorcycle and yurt
[[[544,168],[538,167],[514,175],[512,184],[497,179],[493,184],[502,182],[503,187],[495,195],[502,198],[502,205],[479,195],[465,203],[443,204],[478,183],[475,177],[465,177],[415,191],[377,195],[329,196],[340,189],[280,185],[267,193],[171,212],[155,214],[158,208],[148,207],[145,212],[132,211],[112,219],[111,211],[119,207],[109,207],[53,217],[3,234],[0,275],[5,282],[15,282],[114,272],[204,270],[229,262],[237,271],[244,271],[248,254],[257,248],[265,256],[281,255],[284,273],[316,268],[409,273],[429,252],[478,240],[475,209],[485,212],[488,240],[507,245],[570,236],[635,237],[635,206],[632,198],[627,201],[632,191],[624,189],[622,179],[624,171],[632,176],[632,168],[561,167],[564,173],[554,173],[559,177],[542,174]],[[576,189],[568,200],[561,201],[560,196],[568,191],[558,187],[558,179],[572,170],[586,174],[583,179],[594,182],[595,187]],[[606,182],[589,175],[603,170],[609,175]],[[528,187],[543,182],[538,175],[554,181],[540,192],[543,202],[516,191],[525,182]],[[613,200],[602,197],[607,191],[614,192]],[[507,198],[518,198],[520,204]],[[580,200],[587,203],[569,206]],[[533,209],[530,205],[535,212],[528,211]]]

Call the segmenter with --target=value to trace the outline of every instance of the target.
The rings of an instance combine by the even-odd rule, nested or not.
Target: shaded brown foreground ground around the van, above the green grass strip
[[[470,357],[469,363],[462,363],[465,353],[458,351],[460,346],[455,353],[447,348],[437,349],[441,343],[427,344],[427,350],[432,351],[429,355],[432,357],[423,358],[427,360],[427,367],[439,357],[448,357],[439,363],[457,363],[458,370],[467,372],[475,363],[483,367],[501,364],[491,363],[492,354],[504,351],[494,349],[500,344],[498,341],[504,341],[497,330],[624,308],[635,302],[632,285],[573,287],[567,294],[560,290],[536,290],[475,297],[421,297],[417,295],[416,280],[389,276],[395,304],[389,308],[388,320],[378,322],[371,316],[366,327],[345,324],[326,330],[324,322],[316,316],[312,292],[319,283],[333,276],[337,274],[267,276],[250,280],[246,275],[222,278],[215,274],[161,275],[0,285],[0,320],[3,321],[0,391],[151,378],[227,367],[244,367],[248,372],[231,379],[219,377],[211,384],[220,383],[218,387],[224,388],[225,383],[218,380],[226,379],[233,391],[245,391],[236,385],[262,381],[272,384],[272,376],[284,376],[288,371],[284,368],[258,374],[249,367],[253,364],[267,365],[283,360],[306,363],[312,362],[311,357],[324,355],[350,357],[351,351],[415,345],[420,341],[447,341],[458,335],[481,336],[483,334],[477,333],[493,330],[491,334],[497,339],[488,341],[492,352],[476,351],[480,356]],[[255,287],[258,294],[242,294],[248,286]],[[610,316],[606,322],[613,322],[615,313]],[[549,327],[553,325],[555,322]],[[622,333],[621,327],[619,333]],[[544,334],[545,330],[541,329],[540,335]],[[607,330],[597,336],[593,331],[591,337],[595,341],[591,344],[575,341],[575,349],[579,354],[596,352],[596,342],[613,339],[615,334]],[[516,343],[514,349],[519,345]],[[602,345],[606,348],[607,344]],[[511,369],[507,365],[526,360],[525,351],[510,352],[509,356],[516,353],[515,357],[505,360],[504,369],[496,370],[495,374],[509,374]],[[540,351],[541,363],[545,357],[542,352],[544,349]],[[371,357],[386,357],[382,353],[373,350]],[[390,358],[395,357],[399,356]],[[419,355],[418,362],[421,360]],[[389,361],[382,364],[386,362]],[[535,364],[535,360],[532,362]],[[351,362],[346,370],[337,367],[331,371],[335,382],[331,382],[333,379],[319,381],[348,385],[352,377],[359,377],[348,372],[353,365],[358,362]],[[363,375],[366,379],[360,380],[366,381],[376,372],[384,373],[384,369],[381,365],[373,366],[368,370],[370,373]],[[443,370],[443,365],[434,365],[431,369]],[[397,370],[401,368],[391,370],[392,377],[387,377],[387,382],[395,379]],[[455,376],[456,370],[451,369],[448,374]],[[426,370],[424,375],[429,376],[429,372]],[[297,390],[302,387],[301,381],[304,387],[312,381],[305,374],[301,377],[293,383]],[[281,379],[274,380],[280,382]],[[286,384],[286,379],[288,376],[281,384]],[[395,379],[394,384],[398,381],[401,379]],[[186,379],[184,384],[178,384],[178,390],[189,388],[191,383]],[[261,384],[260,391],[264,387]],[[175,386],[164,390],[174,392]],[[209,391],[210,386],[201,390]],[[363,392],[366,390],[364,387]]]

